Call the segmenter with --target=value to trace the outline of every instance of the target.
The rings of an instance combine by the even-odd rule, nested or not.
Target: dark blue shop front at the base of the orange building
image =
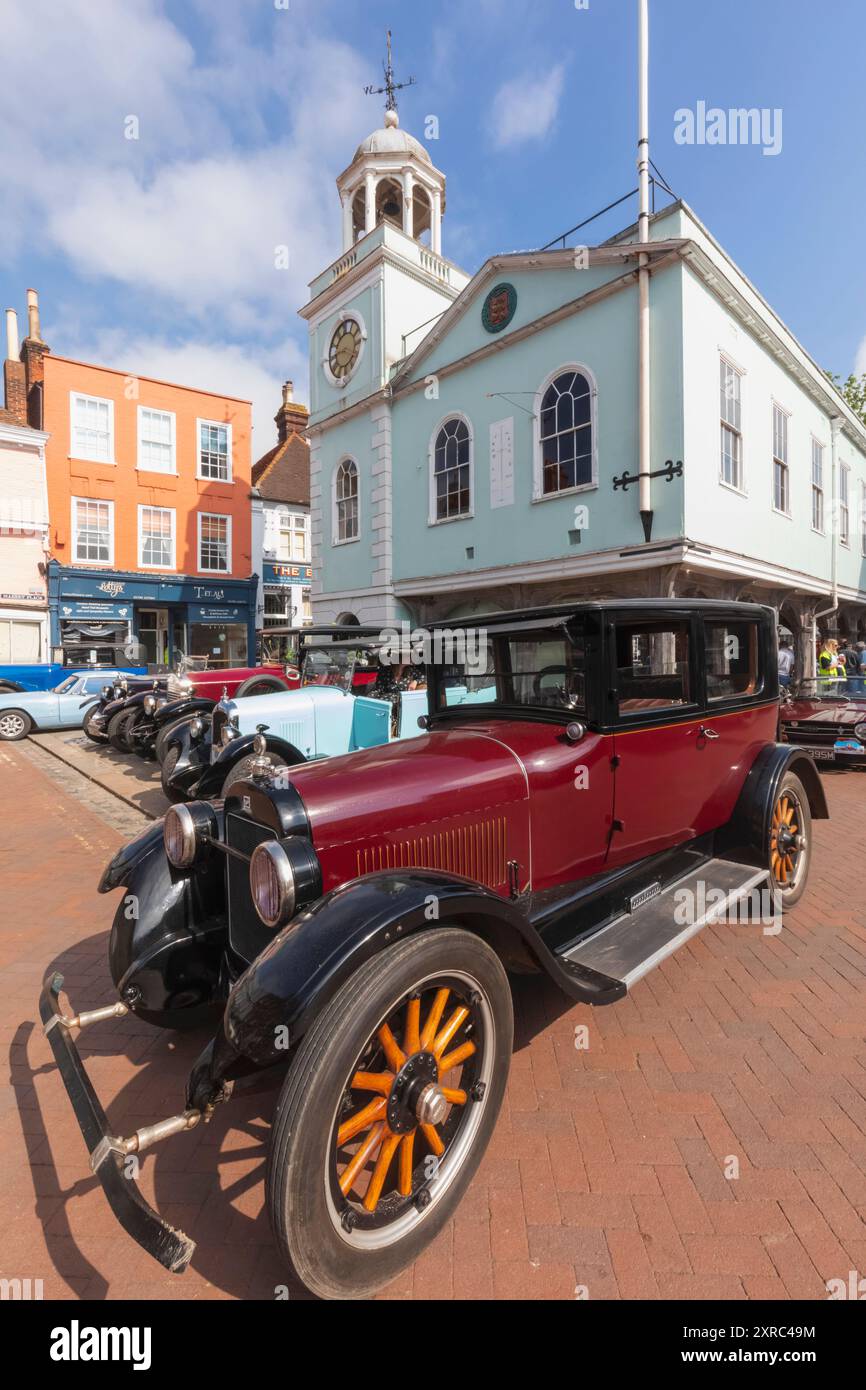
[[[257,578],[156,578],[49,564],[56,659],[136,660],[174,667],[182,656],[209,666],[246,666],[256,649]]]

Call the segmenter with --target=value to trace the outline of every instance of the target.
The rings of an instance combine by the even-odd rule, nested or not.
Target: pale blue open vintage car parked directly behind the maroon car
[[[271,766],[297,763],[359,748],[378,748],[423,733],[427,684],[413,666],[379,660],[367,635],[314,635],[302,656],[300,689],[221,699],[210,717],[172,730],[163,756],[163,791],[170,801],[225,796],[249,776],[256,731],[268,731]]]

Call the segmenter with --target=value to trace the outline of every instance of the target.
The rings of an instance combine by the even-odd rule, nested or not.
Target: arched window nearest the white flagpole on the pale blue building
[[[544,391],[539,410],[537,496],[595,482],[594,389],[587,375],[567,367]]]

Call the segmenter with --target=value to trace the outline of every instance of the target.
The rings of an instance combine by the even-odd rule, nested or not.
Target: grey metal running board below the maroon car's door
[[[767,880],[766,869],[710,859],[664,890],[655,885],[637,894],[624,912],[591,937],[584,937],[562,956],[563,963],[584,966],[631,988],[702,927],[724,922],[737,903]],[[652,892],[649,898],[646,894]]]

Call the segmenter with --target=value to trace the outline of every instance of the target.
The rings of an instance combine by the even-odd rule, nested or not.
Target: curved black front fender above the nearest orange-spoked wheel
[[[286,1059],[341,986],[371,956],[425,927],[460,926],[482,937],[506,966],[531,960],[570,994],[606,1004],[619,981],[591,970],[567,973],[523,908],[480,884],[436,870],[375,873],[335,888],[285,927],[232,987],[222,1027],[199,1058],[190,1104],[220,1094],[227,1080]]]

